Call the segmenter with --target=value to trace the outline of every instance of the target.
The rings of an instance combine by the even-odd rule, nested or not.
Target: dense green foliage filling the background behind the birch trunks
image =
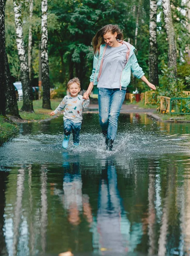
[[[33,77],[39,76],[39,43],[41,40],[41,1],[34,0],[34,14],[31,22],[28,19],[28,1],[22,3],[22,20],[26,52],[28,47],[28,30],[32,24],[33,31]],[[178,56],[178,77],[185,82],[185,76],[190,73],[185,60],[185,49],[190,41],[185,22],[187,17],[181,14],[181,9],[186,9],[182,0],[172,0],[173,23],[176,32]],[[81,81],[81,89],[89,84],[93,64],[93,48],[91,45],[95,33],[108,23],[115,23],[123,29],[124,38],[134,44],[136,29],[137,7],[139,8],[139,24],[137,46],[137,59],[139,65],[149,75],[149,0],[54,0],[48,1],[48,56],[50,81],[52,87],[55,84],[66,84],[69,79],[78,76]],[[157,24],[158,55],[160,90],[164,90],[162,84],[163,64],[167,65],[168,44],[161,2],[159,2],[160,20]],[[20,66],[17,55],[16,35],[14,27],[14,12],[12,0],[6,1],[6,50],[9,58],[11,75],[14,80],[20,80]],[[172,81],[170,81],[172,82]],[[179,81],[173,82],[180,84]],[[147,85],[141,79],[133,79],[128,89],[138,88],[140,92],[147,90]],[[190,89],[190,86],[188,85]],[[173,89],[172,89],[173,90]],[[168,90],[166,90],[168,92]],[[174,90],[175,91],[175,90]]]

